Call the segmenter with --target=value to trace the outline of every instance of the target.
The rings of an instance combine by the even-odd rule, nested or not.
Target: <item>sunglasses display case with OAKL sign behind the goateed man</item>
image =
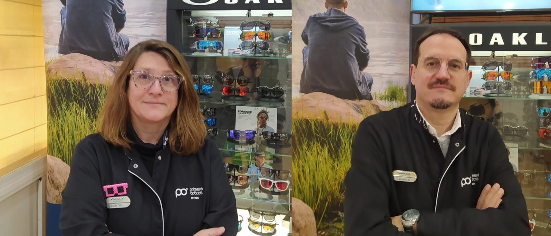
[[[412,43],[436,25],[459,31],[469,42],[472,79],[460,109],[498,128],[526,199],[532,235],[551,235],[551,34],[540,33],[551,30],[551,23],[414,25]],[[516,36],[523,38],[517,42]]]

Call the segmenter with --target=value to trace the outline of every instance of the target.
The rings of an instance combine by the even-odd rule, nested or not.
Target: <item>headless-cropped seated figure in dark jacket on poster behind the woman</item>
[[[130,41],[122,0],[61,0],[61,54],[82,53],[103,61],[122,61]]]

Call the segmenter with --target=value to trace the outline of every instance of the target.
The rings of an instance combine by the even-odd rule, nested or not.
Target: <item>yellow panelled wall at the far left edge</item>
[[[0,175],[46,153],[41,0],[0,0]]]

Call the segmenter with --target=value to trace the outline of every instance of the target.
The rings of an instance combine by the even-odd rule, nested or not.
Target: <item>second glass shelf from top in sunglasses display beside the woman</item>
[[[245,97],[249,98],[249,100],[246,101],[238,101],[238,100],[228,100],[223,99],[224,94],[222,92],[215,92],[209,94],[212,96],[212,98],[201,98],[203,95],[199,96],[199,103],[206,103],[206,104],[235,104],[235,105],[241,105],[241,106],[265,106],[267,108],[291,108],[291,93],[285,94],[282,98],[285,99],[285,101],[282,102],[267,102],[267,101],[259,101],[256,100],[256,93],[249,93]]]

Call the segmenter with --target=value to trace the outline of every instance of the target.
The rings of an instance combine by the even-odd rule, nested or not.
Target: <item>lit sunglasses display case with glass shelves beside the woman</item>
[[[287,9],[250,11],[259,4],[184,5],[169,1],[167,41],[190,67],[208,135],[225,163],[237,235],[290,234],[290,1]]]

